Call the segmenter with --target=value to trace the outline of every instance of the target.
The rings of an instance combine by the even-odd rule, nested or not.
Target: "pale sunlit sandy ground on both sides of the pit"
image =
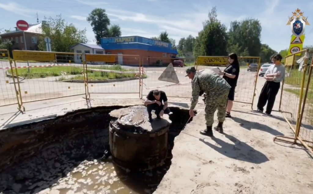
[[[156,83],[159,75],[161,73],[153,73],[150,84],[146,87],[162,84]],[[243,70],[240,76],[235,100],[250,103],[253,98],[254,73]],[[181,75],[179,78],[185,79]],[[260,78],[256,85],[254,104],[257,103],[263,84],[264,80]],[[133,84],[123,87],[126,86],[134,87],[135,90]],[[162,90],[174,97],[190,97],[191,93],[190,84],[165,87]],[[145,94],[149,90],[143,91]],[[138,95],[92,96],[93,106],[139,102],[125,99],[138,98]],[[185,103],[189,107],[190,99],[174,97],[169,98],[170,103]],[[279,99],[278,95],[275,110],[278,110]],[[201,103],[200,100],[198,110],[203,109]],[[16,110],[16,105],[2,108],[2,128],[90,105],[85,104],[80,96],[29,103],[25,106],[28,110],[25,114],[12,111]],[[234,103],[233,118],[225,121],[225,134],[214,133],[214,138],[199,134],[199,130],[205,128],[202,110],[175,139],[172,165],[155,193],[312,193],[313,161],[310,155],[302,147],[273,142],[276,135],[294,135],[281,113],[273,112],[273,117],[265,117],[250,110],[250,104]],[[215,121],[217,122],[216,118]]]

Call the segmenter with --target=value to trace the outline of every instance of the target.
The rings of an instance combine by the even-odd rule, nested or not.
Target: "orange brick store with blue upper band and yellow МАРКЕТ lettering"
[[[139,55],[143,65],[168,65],[178,54],[171,43],[141,36],[102,38],[101,47],[105,54],[119,55],[117,63],[129,65],[139,64],[139,59],[125,55]]]

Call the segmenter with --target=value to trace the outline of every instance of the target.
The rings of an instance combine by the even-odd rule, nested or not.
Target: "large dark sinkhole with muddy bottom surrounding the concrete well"
[[[138,162],[136,168],[129,170],[128,167],[134,167],[134,161],[113,162],[114,153],[103,157],[110,151],[109,125],[116,129],[116,122],[125,116],[117,117],[116,111],[128,107],[80,109],[55,119],[0,131],[0,193],[153,193],[171,166],[169,156],[174,138],[187,123],[189,110],[170,107],[172,114],[166,115],[170,121],[166,159],[150,163],[150,168],[147,162]],[[114,111],[115,115],[111,113]],[[142,122],[141,119],[138,122]],[[124,138],[128,133],[141,134],[140,138],[154,133],[142,126],[124,131],[127,132]],[[160,134],[159,130],[155,132]],[[149,141],[139,142],[139,150],[149,147]]]

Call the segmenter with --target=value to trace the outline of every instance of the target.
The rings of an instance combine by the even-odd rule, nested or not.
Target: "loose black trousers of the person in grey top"
[[[261,93],[259,96],[259,102],[257,105],[259,110],[263,111],[263,108],[267,102],[265,113],[271,114],[279,88],[280,88],[280,82],[274,82],[274,81],[265,82],[261,90]]]

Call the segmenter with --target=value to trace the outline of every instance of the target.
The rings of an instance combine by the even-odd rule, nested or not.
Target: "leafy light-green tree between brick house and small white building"
[[[61,15],[56,18],[44,18],[47,24],[42,26],[42,33],[39,36],[39,50],[46,51],[45,37],[51,39],[51,50],[56,52],[70,52],[70,47],[87,43],[86,29],[79,30],[73,24],[68,24]]]

